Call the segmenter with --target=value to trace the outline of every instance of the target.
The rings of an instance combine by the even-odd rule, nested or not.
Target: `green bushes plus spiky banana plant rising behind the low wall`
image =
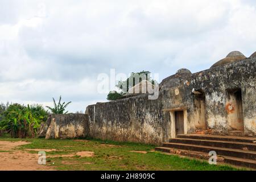
[[[51,113],[67,114],[65,109],[71,102],[61,103],[60,96],[58,104],[53,98],[53,104],[53,108],[47,106]],[[13,138],[35,138],[48,114],[49,111],[41,105],[0,104],[0,136],[7,133]]]

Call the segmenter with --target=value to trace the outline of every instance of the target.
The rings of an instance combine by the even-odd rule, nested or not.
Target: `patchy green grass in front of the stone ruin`
[[[176,155],[166,155],[160,152],[151,152],[150,150],[154,149],[155,146],[148,144],[112,142],[96,139],[89,139],[86,142],[71,139],[0,138],[0,140],[26,140],[31,142],[20,147],[19,150],[56,149],[57,151],[46,152],[46,155],[47,165],[55,167],[57,170],[238,170],[230,166],[213,166],[200,160],[180,158]],[[51,158],[52,155],[72,154],[79,151],[93,151],[95,156],[93,158],[81,158],[79,156]],[[147,154],[138,154],[130,151],[147,151]],[[37,153],[36,151],[29,152]]]

